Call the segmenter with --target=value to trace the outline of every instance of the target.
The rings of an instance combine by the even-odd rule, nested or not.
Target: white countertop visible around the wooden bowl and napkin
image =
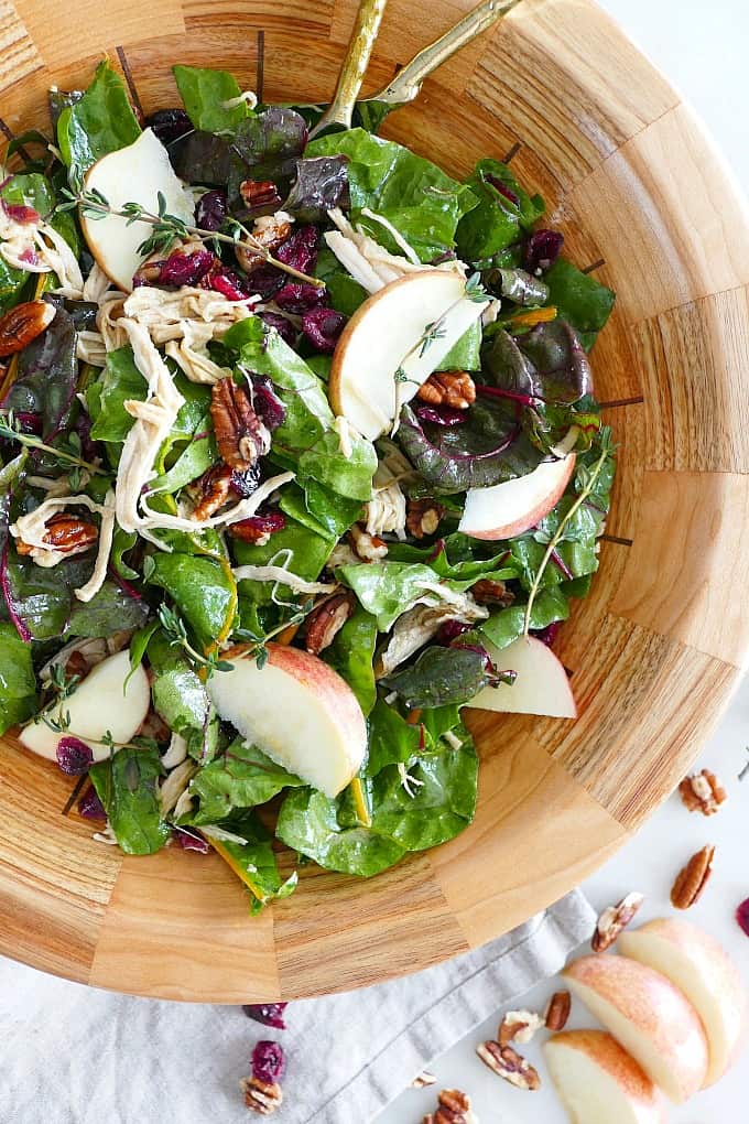
[[[647,55],[666,73],[697,110],[734,173],[749,193],[749,6],[746,0],[599,0]],[[749,610],[748,610],[749,611]],[[629,890],[647,895],[643,921],[670,913],[673,879],[688,856],[705,843],[716,844],[715,869],[703,899],[685,916],[703,925],[737,959],[749,982],[749,939],[737,925],[737,905],[749,897],[749,777],[737,774],[749,762],[749,680],[733,700],[700,762],[723,780],[729,799],[711,818],[688,814],[672,797],[639,834],[584,889],[596,908],[619,900]],[[584,951],[584,950],[583,950]],[[544,1009],[555,990],[547,981],[514,1006]],[[458,1042],[431,1067],[437,1085],[408,1089],[382,1113],[376,1124],[419,1124],[433,1111],[436,1090],[468,1093],[481,1124],[566,1124],[540,1060],[536,1042],[522,1049],[541,1072],[542,1087],[529,1094],[511,1088],[477,1058],[478,1042],[494,1037],[499,1016]],[[569,1026],[594,1025],[579,1005]],[[544,1035],[539,1035],[539,1040]],[[749,1120],[749,1050],[732,1072],[689,1105],[673,1109],[674,1124],[746,1124]]]

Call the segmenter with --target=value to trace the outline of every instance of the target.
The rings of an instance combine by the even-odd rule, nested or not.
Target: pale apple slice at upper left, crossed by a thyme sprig
[[[135,202],[154,215],[161,193],[170,215],[194,223],[193,196],[175,175],[166,148],[152,129],[144,129],[133,144],[98,160],[86,173],[85,189],[100,191],[116,210],[126,202]],[[138,246],[153,234],[153,227],[147,223],[128,226],[118,215],[89,218],[81,211],[81,228],[89,250],[110,281],[122,292],[131,292],[133,274],[143,261]]]

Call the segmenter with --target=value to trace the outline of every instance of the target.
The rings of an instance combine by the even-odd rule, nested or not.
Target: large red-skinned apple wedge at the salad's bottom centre
[[[367,728],[354,691],[316,655],[268,644],[263,668],[247,650],[229,652],[231,671],[207,687],[219,716],[277,764],[326,796],[356,777]]]

